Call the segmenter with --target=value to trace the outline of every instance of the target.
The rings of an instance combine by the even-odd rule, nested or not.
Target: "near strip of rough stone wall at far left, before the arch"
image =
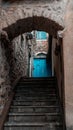
[[[5,55],[4,43],[0,39],[0,114],[10,92],[9,64]]]

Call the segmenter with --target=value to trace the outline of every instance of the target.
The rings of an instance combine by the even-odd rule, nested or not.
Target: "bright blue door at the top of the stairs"
[[[32,77],[50,77],[51,68],[47,65],[46,58],[34,58]]]

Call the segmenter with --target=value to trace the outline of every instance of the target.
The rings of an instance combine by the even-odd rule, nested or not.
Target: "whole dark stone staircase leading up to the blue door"
[[[55,77],[21,78],[4,130],[63,130]]]

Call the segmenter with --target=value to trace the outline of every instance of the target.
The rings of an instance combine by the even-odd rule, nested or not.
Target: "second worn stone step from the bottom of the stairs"
[[[9,122],[52,122],[52,121],[61,121],[61,116],[59,114],[41,114],[41,115],[29,115],[29,114],[9,114]]]

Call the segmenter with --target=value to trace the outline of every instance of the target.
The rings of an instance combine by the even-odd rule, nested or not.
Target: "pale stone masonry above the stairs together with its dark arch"
[[[64,0],[62,1],[29,1],[17,4],[4,5],[0,8],[0,29],[7,31],[10,38],[20,33],[34,29],[43,30],[55,35],[58,30],[64,27],[65,11]],[[27,30],[28,29],[28,30]]]

